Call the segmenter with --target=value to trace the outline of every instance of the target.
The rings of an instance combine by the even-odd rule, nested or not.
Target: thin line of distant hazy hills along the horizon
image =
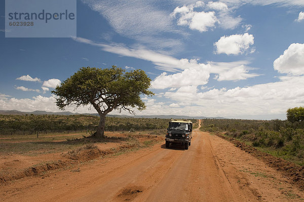
[[[18,110],[0,110],[0,114],[3,115],[25,115],[25,114],[34,114],[34,115],[43,115],[43,114],[53,114],[53,115],[78,115],[80,113],[72,113],[72,112],[46,112],[46,111],[33,111],[33,112],[20,112]],[[82,115],[92,115],[92,116],[99,116],[97,113],[89,114],[85,113]],[[159,118],[159,119],[226,119],[223,117],[205,117],[205,116],[182,116],[182,115],[112,115],[108,114],[108,117],[121,117],[121,118]]]

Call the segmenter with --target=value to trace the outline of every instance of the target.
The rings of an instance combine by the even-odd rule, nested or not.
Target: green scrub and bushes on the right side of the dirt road
[[[273,156],[304,165],[302,110],[289,109],[287,120],[203,119],[201,130],[224,134]]]

